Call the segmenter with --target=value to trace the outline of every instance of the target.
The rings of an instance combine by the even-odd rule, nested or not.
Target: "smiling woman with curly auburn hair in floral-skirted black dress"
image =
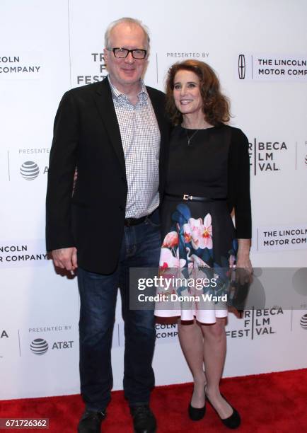
[[[207,64],[187,60],[170,67],[166,95],[174,129],[163,199],[160,269],[196,267],[197,275],[202,270],[217,279],[215,289],[212,284],[202,293],[225,294],[229,268],[236,265],[252,273],[248,139],[241,129],[225,125],[230,118],[228,100]],[[187,287],[179,291],[195,295]],[[219,391],[226,355],[225,304],[196,306],[194,311],[156,308],[156,316],[180,316],[180,345],[194,379],[190,418],[204,416],[207,398],[226,427],[238,427],[238,412]]]

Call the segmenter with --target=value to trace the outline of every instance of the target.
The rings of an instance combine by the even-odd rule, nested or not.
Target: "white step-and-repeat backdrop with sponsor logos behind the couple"
[[[306,295],[306,13],[303,0],[1,1],[0,398],[79,393],[76,279],[57,274],[45,250],[48,160],[62,94],[106,76],[103,35],[122,16],[149,27],[149,86],[163,90],[168,67],[183,59],[219,74],[231,125],[250,143],[253,265],[288,268],[281,296],[298,276]],[[302,299],[230,313],[224,376],[306,367]],[[156,335],[156,384],[191,381],[176,325],[156,325]],[[119,297],[115,389],[123,352]]]

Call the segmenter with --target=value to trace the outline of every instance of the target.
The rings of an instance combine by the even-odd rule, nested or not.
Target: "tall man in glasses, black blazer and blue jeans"
[[[129,267],[156,267],[158,183],[163,185],[168,123],[163,93],[141,76],[149,35],[122,18],[105,33],[109,75],[64,94],[54,121],[47,187],[47,250],[54,265],[78,267],[81,393],[79,433],[100,432],[110,401],[110,350],[117,287],[124,318],[124,396],[134,431],[156,431],[153,311],[129,310]],[[77,168],[73,190],[74,171]]]

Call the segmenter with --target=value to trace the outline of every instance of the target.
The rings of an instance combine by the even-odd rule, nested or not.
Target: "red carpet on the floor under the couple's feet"
[[[243,376],[221,381],[221,391],[241,413],[240,432],[307,431],[307,369],[282,373]],[[152,393],[151,407],[158,420],[158,433],[166,432],[227,432],[216,413],[207,404],[203,420],[193,422],[187,417],[192,383],[159,386]],[[48,417],[47,430],[27,432],[73,433],[83,412],[80,396],[4,400],[0,417]],[[2,430],[1,431],[6,431]],[[7,431],[21,432],[10,429]],[[132,420],[122,391],[112,393],[103,432],[133,432]]]

